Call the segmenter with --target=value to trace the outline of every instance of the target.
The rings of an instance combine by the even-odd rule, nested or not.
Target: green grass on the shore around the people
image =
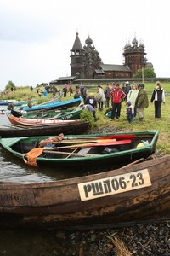
[[[145,84],[145,90],[148,92],[149,100],[151,97],[151,93],[155,88],[155,83],[144,83]],[[133,121],[132,124],[129,124],[127,121],[126,116],[126,105],[125,102],[122,102],[122,111],[121,111],[121,117],[120,119],[116,121],[112,121],[105,116],[105,108],[102,112],[99,112],[97,110],[97,118],[98,121],[94,123],[94,126],[97,127],[106,127],[106,126],[112,126],[116,127],[120,130],[125,131],[146,131],[146,130],[159,130],[160,136],[158,139],[158,143],[156,148],[160,151],[162,154],[170,154],[170,82],[168,83],[161,83],[163,85],[163,88],[166,93],[166,103],[162,104],[161,107],[161,119],[155,119],[154,118],[154,104],[150,103],[149,108],[144,109],[144,121],[143,123],[138,123],[138,118]],[[63,101],[73,98],[75,93],[75,86],[76,84],[72,84],[73,88],[73,95],[70,96],[70,94],[67,94],[67,97],[63,97]],[[102,85],[103,89],[105,88],[105,84]],[[62,85],[57,86],[58,90],[62,90]],[[44,88],[42,88],[42,91]],[[92,88],[88,85],[88,92],[93,92],[94,96],[97,93],[97,85],[96,87],[93,86]],[[57,95],[58,96],[58,95]],[[48,94],[48,97],[37,96],[37,91],[34,88],[34,90],[31,92],[30,87],[20,87],[17,88],[16,91],[8,91],[8,94],[5,96],[0,96],[0,99],[16,99],[16,100],[27,100],[28,98],[36,98],[37,101],[44,102],[49,101],[52,99],[52,93]],[[111,102],[110,102],[111,104]]]

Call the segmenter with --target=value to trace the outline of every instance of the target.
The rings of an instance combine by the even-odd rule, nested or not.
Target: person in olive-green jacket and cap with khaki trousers
[[[144,84],[139,84],[138,89],[139,89],[139,93],[136,98],[135,108],[139,116],[139,123],[141,123],[144,119],[144,108],[148,108],[149,100],[148,100],[148,94],[144,89]]]

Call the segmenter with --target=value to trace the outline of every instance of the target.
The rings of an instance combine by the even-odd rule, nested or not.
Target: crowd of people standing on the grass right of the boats
[[[121,116],[122,102],[126,104],[127,121],[132,123],[138,117],[139,123],[144,119],[144,108],[149,107],[149,97],[144,84],[125,84],[112,83],[106,84],[105,89],[98,85],[96,96],[94,93],[88,94],[88,89],[80,84],[76,86],[74,98],[82,96],[83,103],[81,107],[87,108],[94,115],[96,121],[96,110],[102,111],[106,108],[105,114],[111,120],[119,119]],[[156,82],[156,88],[153,90],[150,102],[154,102],[155,118],[161,118],[161,103],[165,103],[165,92],[159,81]],[[110,108],[111,106],[111,108]]]

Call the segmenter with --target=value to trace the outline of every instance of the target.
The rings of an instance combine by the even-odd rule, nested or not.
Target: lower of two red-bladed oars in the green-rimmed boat
[[[88,148],[88,147],[96,147],[96,146],[114,146],[114,145],[122,145],[131,143],[131,140],[122,140],[122,141],[114,141],[114,142],[99,142],[99,143],[85,143],[85,144],[75,144],[70,146],[56,147],[55,149],[63,149],[63,148]]]

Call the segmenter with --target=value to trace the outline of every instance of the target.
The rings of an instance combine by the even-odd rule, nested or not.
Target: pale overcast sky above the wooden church
[[[170,77],[169,0],[0,0],[0,90],[71,75],[76,34],[105,64],[122,64],[135,34],[157,77]]]

